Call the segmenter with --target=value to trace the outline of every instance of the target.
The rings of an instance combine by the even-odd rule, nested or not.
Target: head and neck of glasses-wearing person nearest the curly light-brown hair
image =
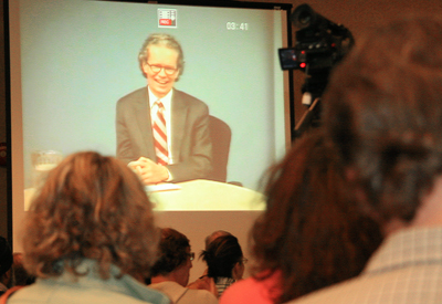
[[[171,228],[161,229],[159,258],[151,268],[151,282],[173,281],[186,286],[193,258],[189,239],[185,234]]]

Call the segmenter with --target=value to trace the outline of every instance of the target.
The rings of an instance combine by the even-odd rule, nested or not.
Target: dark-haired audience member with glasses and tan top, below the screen
[[[208,291],[190,290],[190,269],[194,253],[189,239],[171,228],[161,229],[159,259],[151,268],[149,287],[166,294],[175,304],[215,304],[217,297]]]

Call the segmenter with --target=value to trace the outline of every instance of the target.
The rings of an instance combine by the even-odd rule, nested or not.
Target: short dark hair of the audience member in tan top
[[[151,268],[151,275],[167,275],[183,263],[189,258],[189,239],[172,228],[161,229],[161,240],[159,241],[159,259]]]

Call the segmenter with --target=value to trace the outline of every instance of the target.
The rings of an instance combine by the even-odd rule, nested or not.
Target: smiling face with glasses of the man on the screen
[[[172,90],[178,77],[178,52],[164,45],[151,45],[148,52],[148,60],[143,65],[143,71],[154,95],[162,98]],[[159,69],[160,71],[152,71]]]

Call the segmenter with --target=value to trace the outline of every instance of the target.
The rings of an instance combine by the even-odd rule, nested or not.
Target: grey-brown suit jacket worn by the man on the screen
[[[172,155],[168,165],[175,182],[207,178],[212,171],[208,106],[173,88],[171,99]],[[122,97],[116,113],[117,158],[129,163],[144,156],[156,161],[147,87]]]

